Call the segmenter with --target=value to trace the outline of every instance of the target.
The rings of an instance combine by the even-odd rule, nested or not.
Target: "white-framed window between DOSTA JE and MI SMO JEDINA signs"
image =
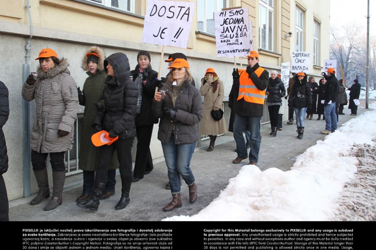
[[[214,12],[228,6],[228,0],[197,0],[197,29],[215,34]]]

